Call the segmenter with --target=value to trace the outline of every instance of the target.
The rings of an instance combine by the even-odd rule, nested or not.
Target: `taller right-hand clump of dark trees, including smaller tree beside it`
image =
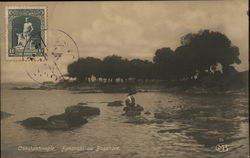
[[[232,64],[241,63],[238,47],[220,32],[203,30],[181,38],[181,46],[158,49],[154,63],[158,78],[165,80],[201,79],[214,74],[221,64],[224,74],[232,72]]]

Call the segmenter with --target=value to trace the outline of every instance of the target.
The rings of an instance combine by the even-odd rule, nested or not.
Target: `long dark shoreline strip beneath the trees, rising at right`
[[[187,94],[248,94],[249,71],[232,73],[231,75],[215,79],[205,77],[201,80],[164,81],[148,80],[147,82],[103,83],[79,82],[66,80],[57,83],[8,83],[2,84],[11,90],[69,90],[75,93],[128,93],[137,92],[169,92]]]

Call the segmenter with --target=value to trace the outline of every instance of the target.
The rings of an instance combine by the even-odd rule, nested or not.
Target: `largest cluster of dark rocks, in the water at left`
[[[99,108],[78,104],[67,107],[64,113],[50,116],[47,120],[40,117],[30,117],[21,121],[21,124],[33,129],[67,130],[80,127],[88,122],[88,117],[99,114]]]

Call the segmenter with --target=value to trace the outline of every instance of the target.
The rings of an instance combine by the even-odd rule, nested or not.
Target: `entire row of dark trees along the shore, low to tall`
[[[232,64],[241,62],[239,54],[239,48],[224,34],[203,30],[183,36],[175,50],[169,47],[156,50],[152,62],[117,55],[102,60],[87,57],[68,65],[68,74],[79,81],[89,81],[92,76],[107,82],[116,82],[118,78],[123,82],[129,78],[144,82],[146,79],[199,80],[207,75],[235,72]]]

